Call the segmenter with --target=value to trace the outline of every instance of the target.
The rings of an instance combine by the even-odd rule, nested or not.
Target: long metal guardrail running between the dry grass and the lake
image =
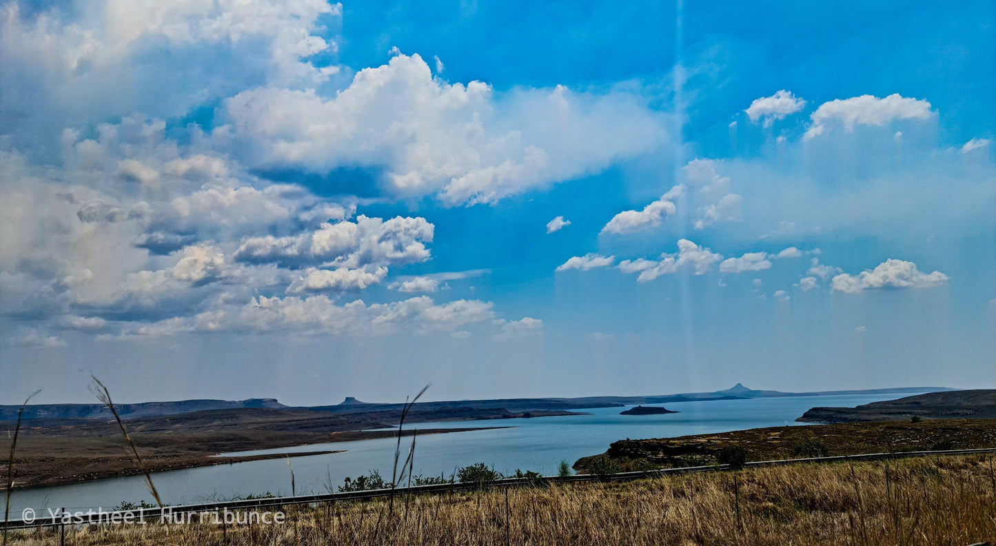
[[[979,453],[996,453],[996,447],[984,447],[979,449],[945,449],[945,450],[931,450],[931,451],[903,451],[903,452],[893,452],[893,453],[862,453],[857,455],[834,455],[826,457],[808,457],[808,458],[794,458],[794,459],[776,459],[776,460],[759,460],[753,462],[747,462],[744,464],[745,468],[754,467],[764,467],[764,466],[784,466],[789,464],[803,464],[812,462],[845,462],[845,461],[855,461],[855,460],[882,460],[882,459],[895,459],[895,458],[907,458],[907,457],[918,457],[918,456],[928,456],[928,455],[971,455]],[[521,487],[525,485],[533,485],[537,483],[552,484],[552,483],[571,483],[571,482],[581,482],[581,481],[629,481],[641,478],[654,478],[662,477],[667,475],[679,475],[688,474],[696,472],[711,472],[717,470],[728,470],[729,465],[726,464],[711,464],[705,466],[684,466],[679,468],[660,468],[655,470],[637,470],[631,472],[619,472],[610,475],[596,475],[596,474],[575,474],[571,476],[542,476],[539,478],[502,478],[495,481],[488,482],[485,487]],[[412,485],[411,487],[397,487],[395,489],[373,489],[367,491],[350,491],[344,493],[322,493],[322,494],[310,494],[310,495],[296,495],[287,497],[270,497],[270,498],[258,498],[249,500],[229,500],[220,502],[210,502],[203,504],[185,504],[176,506],[166,506],[164,508],[145,508],[138,510],[117,510],[117,511],[105,511],[100,513],[95,513],[95,515],[84,518],[83,521],[76,521],[75,519],[70,525],[95,525],[95,524],[106,524],[113,521],[112,518],[117,518],[118,522],[124,521],[126,517],[132,520],[137,520],[142,518],[143,521],[160,521],[164,517],[175,518],[176,516],[191,513],[202,513],[202,512],[217,512],[217,511],[236,511],[236,510],[247,510],[251,508],[273,508],[281,506],[294,506],[294,505],[307,505],[307,504],[318,504],[326,502],[339,502],[348,500],[364,500],[386,497],[390,495],[401,496],[407,494],[428,494],[428,493],[445,493],[450,491],[465,491],[481,488],[480,484],[477,483],[442,483],[433,485]],[[57,512],[58,513],[58,512]],[[86,513],[85,513],[86,514]],[[6,527],[8,529],[33,529],[39,527],[58,527],[62,525],[62,521],[57,519],[53,521],[52,517],[48,516],[48,513],[39,514],[36,520],[27,522],[20,519],[11,519],[10,521],[0,522],[0,528]]]

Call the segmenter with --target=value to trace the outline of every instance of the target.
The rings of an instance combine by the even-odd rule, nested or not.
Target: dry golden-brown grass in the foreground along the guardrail
[[[386,501],[292,508],[284,525],[224,532],[91,526],[68,530],[66,544],[964,546],[996,543],[992,464],[989,455],[921,457],[491,489],[399,497],[390,515]],[[52,531],[12,538],[58,544]]]

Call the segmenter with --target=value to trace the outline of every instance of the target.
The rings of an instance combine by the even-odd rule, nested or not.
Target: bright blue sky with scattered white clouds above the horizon
[[[0,404],[996,388],[996,6],[0,3]]]

